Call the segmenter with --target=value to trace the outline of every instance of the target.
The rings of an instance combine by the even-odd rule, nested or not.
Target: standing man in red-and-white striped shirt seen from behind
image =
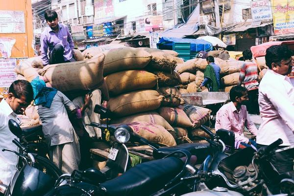
[[[259,114],[258,105],[258,70],[255,62],[252,61],[252,52],[250,49],[243,51],[243,58],[245,63],[242,65],[239,85],[244,84],[244,87],[248,90],[248,104],[247,110],[249,114]]]

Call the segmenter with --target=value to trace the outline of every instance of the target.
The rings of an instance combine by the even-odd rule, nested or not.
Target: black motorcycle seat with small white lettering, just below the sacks
[[[202,163],[207,155],[209,155],[211,152],[209,143],[191,143],[180,144],[174,147],[159,147],[158,150],[153,150],[153,157],[155,159],[161,159],[180,149],[188,150],[192,155],[196,155],[196,163]]]

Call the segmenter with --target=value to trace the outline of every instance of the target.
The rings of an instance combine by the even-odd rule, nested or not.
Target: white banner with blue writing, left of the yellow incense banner
[[[253,21],[271,20],[271,7],[269,0],[251,1],[251,16]]]

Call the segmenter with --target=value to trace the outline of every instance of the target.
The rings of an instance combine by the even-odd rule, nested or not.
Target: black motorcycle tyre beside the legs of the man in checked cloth
[[[35,158],[34,167],[50,175],[53,179],[57,180],[63,173],[57,168],[48,158],[38,154],[32,154]]]

